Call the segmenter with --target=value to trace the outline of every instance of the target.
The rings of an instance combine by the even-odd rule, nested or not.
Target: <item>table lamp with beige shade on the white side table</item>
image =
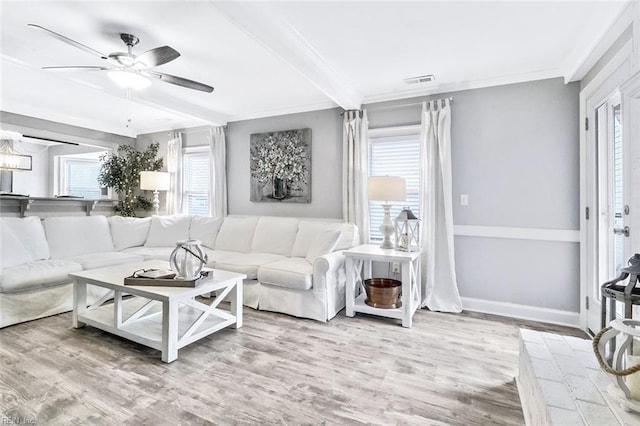
[[[380,233],[382,233],[382,244],[380,248],[394,248],[391,242],[394,226],[391,223],[391,204],[389,201],[405,201],[407,198],[407,184],[404,178],[399,176],[371,176],[369,178],[369,201],[382,201],[384,216]]]

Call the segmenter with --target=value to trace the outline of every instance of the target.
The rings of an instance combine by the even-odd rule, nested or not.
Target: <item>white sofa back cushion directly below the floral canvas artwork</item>
[[[291,255],[298,233],[299,219],[291,217],[261,217],[251,245],[252,252]]]

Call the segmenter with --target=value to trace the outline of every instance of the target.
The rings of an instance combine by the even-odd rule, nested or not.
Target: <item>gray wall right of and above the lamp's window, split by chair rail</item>
[[[550,79],[432,98],[448,96],[454,224],[578,230],[579,84]],[[367,105],[370,127],[418,124],[415,104],[426,99]],[[463,297],[578,312],[578,243],[459,235],[455,248]]]

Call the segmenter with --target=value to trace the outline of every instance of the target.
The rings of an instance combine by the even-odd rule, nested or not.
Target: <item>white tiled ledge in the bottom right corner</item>
[[[591,340],[520,329],[516,382],[527,425],[640,425],[607,391]]]

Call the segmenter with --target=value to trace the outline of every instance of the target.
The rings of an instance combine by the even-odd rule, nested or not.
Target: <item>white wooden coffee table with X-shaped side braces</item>
[[[242,327],[242,280],[246,275],[215,270],[213,278],[197,287],[124,285],[124,278],[140,269],[167,269],[169,263],[152,260],[69,274],[73,286],[73,326],[90,325],[162,351],[162,361],[178,358],[178,349],[216,331]],[[87,306],[87,284],[107,288],[104,297]],[[218,291],[211,305],[196,296]],[[132,295],[123,299],[123,295]],[[218,307],[230,296],[229,311]],[[112,304],[105,304],[113,299]]]

